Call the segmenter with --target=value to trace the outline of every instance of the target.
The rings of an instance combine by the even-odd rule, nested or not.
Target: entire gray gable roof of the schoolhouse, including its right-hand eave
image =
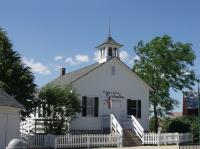
[[[55,86],[65,86],[68,84],[71,84],[77,80],[79,80],[80,78],[84,77],[85,75],[87,75],[88,73],[92,72],[93,70],[101,67],[102,65],[112,61],[112,60],[118,60],[119,62],[121,62],[122,65],[124,65],[128,71],[130,71],[134,77],[136,79],[138,79],[142,84],[144,84],[145,86],[147,86],[149,88],[149,90],[153,90],[146,82],[144,82],[137,74],[135,74],[124,62],[122,62],[119,58],[115,57],[110,59],[109,61],[105,62],[105,63],[95,63],[92,65],[89,65],[87,67],[84,67],[82,69],[76,70],[76,71],[72,71],[70,73],[66,73],[63,76],[60,76],[58,78],[56,78],[55,80],[51,81],[48,83],[48,85],[55,85]]]

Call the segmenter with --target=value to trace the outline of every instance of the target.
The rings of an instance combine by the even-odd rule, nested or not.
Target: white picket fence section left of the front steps
[[[45,135],[33,134],[21,135],[31,147],[81,148],[81,147],[120,147],[122,135],[111,134],[66,134]]]

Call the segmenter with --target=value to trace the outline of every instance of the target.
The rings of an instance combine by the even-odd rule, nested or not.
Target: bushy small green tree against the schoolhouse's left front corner
[[[39,92],[38,97],[45,119],[45,132],[51,134],[66,133],[76,112],[80,112],[77,93],[69,86],[61,88],[47,85]]]

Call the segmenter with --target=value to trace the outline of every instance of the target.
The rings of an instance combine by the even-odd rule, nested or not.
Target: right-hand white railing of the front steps
[[[128,119],[130,119],[130,121],[131,121],[131,129],[134,130],[134,132],[136,133],[136,135],[143,142],[144,128],[140,125],[140,123],[138,122],[138,120],[133,115],[129,115]]]

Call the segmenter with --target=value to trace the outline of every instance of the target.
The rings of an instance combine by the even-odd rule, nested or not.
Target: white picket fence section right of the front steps
[[[143,144],[180,144],[192,142],[191,133],[144,133]]]

